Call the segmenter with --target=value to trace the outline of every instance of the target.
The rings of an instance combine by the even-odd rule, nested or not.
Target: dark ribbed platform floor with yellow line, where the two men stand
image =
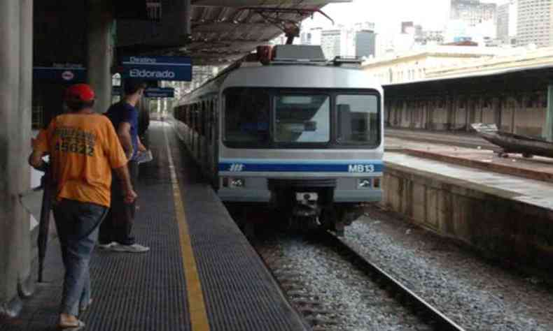
[[[151,251],[95,251],[84,330],[308,330],[172,128],[151,122],[148,140],[154,160],[141,165],[134,231]],[[57,330],[57,241],[47,255],[45,282],[0,331]]]

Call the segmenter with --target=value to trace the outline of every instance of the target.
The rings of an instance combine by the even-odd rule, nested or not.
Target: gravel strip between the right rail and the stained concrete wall
[[[370,209],[346,229],[345,241],[465,330],[553,330],[552,291],[540,279],[492,265],[393,214]]]

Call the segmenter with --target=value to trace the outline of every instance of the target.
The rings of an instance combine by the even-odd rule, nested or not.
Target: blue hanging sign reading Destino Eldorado
[[[123,78],[140,80],[192,80],[190,57],[123,57]]]

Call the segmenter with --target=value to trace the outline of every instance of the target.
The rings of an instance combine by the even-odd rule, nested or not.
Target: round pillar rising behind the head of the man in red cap
[[[87,74],[96,92],[94,110],[106,112],[111,105],[113,5],[106,0],[88,0]]]

